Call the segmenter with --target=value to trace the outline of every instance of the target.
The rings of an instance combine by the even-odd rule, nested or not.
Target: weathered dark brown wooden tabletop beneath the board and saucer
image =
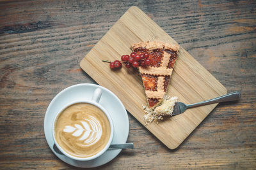
[[[129,142],[102,169],[256,167],[256,1],[0,1],[0,169],[71,169],[52,153],[44,115],[52,98],[95,83],[84,55],[130,6],[138,6],[228,92],[176,150],[129,114]],[[136,25],[134,25],[136,27]]]

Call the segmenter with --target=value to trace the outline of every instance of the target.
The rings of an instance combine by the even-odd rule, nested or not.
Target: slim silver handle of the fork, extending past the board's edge
[[[240,92],[232,92],[232,93],[226,94],[224,96],[210,99],[208,101],[202,101],[199,103],[188,104],[188,108],[192,108],[195,106],[204,106],[206,104],[220,103],[220,102],[225,102],[225,101],[237,101],[240,99],[240,96],[241,96]]]

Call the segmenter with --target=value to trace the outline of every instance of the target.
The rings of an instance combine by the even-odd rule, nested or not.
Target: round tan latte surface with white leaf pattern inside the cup
[[[92,157],[108,143],[108,117],[97,106],[72,104],[61,111],[54,125],[55,139],[65,152],[79,158]]]

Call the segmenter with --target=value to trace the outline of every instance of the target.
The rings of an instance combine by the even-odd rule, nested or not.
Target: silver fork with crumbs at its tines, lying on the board
[[[220,97],[216,97],[214,99],[210,99],[207,101],[201,101],[199,103],[194,103],[194,104],[184,104],[181,102],[175,103],[175,106],[173,108],[173,113],[172,116],[179,115],[180,113],[183,113],[186,111],[188,108],[194,108],[197,106],[204,106],[207,104],[213,104],[213,103],[220,103],[220,102],[226,102],[226,101],[237,101],[241,97],[240,92],[232,92]]]

